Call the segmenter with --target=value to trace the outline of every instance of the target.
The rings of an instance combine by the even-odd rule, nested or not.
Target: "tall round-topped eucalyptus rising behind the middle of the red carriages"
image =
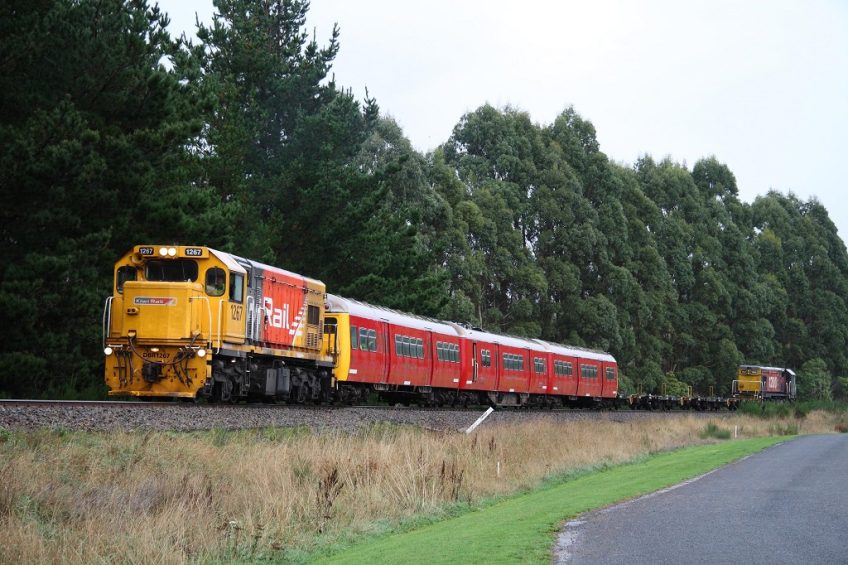
[[[536,163],[544,151],[526,113],[483,106],[462,117],[442,148],[456,168],[464,194],[454,205],[472,280],[452,286],[478,298],[477,319],[493,329],[539,335],[537,304],[545,278],[531,253],[529,197],[538,185]]]

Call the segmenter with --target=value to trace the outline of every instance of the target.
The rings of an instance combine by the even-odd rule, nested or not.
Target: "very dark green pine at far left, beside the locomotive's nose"
[[[172,165],[199,123],[180,100],[181,77],[161,63],[178,47],[157,8],[55,0],[3,9],[0,391],[100,393],[111,265],[139,231],[150,233],[147,198],[164,192],[162,179],[176,182]]]

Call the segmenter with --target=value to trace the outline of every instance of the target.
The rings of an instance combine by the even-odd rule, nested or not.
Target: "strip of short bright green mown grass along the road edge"
[[[660,490],[785,441],[766,437],[685,448],[589,472],[456,518],[315,556],[319,563],[549,563],[562,522]]]

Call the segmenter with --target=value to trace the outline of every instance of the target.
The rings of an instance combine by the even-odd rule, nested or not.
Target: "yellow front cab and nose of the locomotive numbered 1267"
[[[211,353],[244,341],[245,269],[205,247],[136,246],[104,307],[110,395],[193,398]]]

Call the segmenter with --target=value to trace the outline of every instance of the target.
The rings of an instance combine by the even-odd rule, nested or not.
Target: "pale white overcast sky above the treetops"
[[[159,5],[175,35],[212,19],[211,0]],[[746,202],[815,196],[848,234],[844,0],[313,0],[320,43],[334,23],[337,84],[422,151],[486,102],[540,124],[573,105],[617,162],[715,155]]]

